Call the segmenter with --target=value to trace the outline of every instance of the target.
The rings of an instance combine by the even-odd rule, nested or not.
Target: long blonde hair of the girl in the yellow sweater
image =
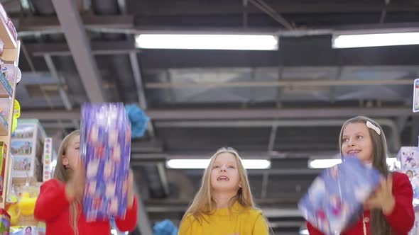
[[[241,158],[236,150],[232,148],[221,148],[212,155],[211,160],[209,161],[209,166],[205,169],[204,176],[202,176],[202,182],[200,190],[197,195],[195,195],[192,204],[185,212],[183,220],[187,216],[193,216],[198,222],[202,221],[202,216],[204,214],[211,214],[216,208],[214,198],[212,197],[211,190],[211,170],[214,165],[214,161],[219,154],[229,153],[233,154],[237,162],[237,170],[239,171],[239,181],[241,182],[241,188],[237,191],[237,194],[230,200],[229,207],[232,207],[234,202],[239,202],[242,206],[247,208],[255,209],[255,204],[253,196],[251,195],[249,179],[247,178],[247,171],[241,163]]]

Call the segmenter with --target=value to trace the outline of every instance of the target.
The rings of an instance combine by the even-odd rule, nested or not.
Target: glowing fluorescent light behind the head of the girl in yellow
[[[271,161],[265,159],[242,159],[246,169],[267,169],[271,168]],[[178,169],[205,169],[209,165],[209,159],[170,159],[166,161],[168,168]]]

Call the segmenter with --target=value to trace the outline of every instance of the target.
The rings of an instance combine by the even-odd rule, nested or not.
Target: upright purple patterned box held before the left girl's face
[[[122,103],[82,105],[80,157],[86,168],[87,221],[125,217],[130,151],[131,125]]]

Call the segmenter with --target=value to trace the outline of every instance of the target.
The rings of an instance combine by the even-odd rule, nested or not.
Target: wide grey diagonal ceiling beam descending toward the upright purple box
[[[75,2],[53,0],[53,5],[89,101],[93,103],[106,101],[102,92],[102,79]]]

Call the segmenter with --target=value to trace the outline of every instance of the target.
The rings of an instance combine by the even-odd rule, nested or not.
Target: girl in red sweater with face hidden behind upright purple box
[[[109,220],[87,222],[80,201],[85,188],[85,171],[79,160],[80,132],[65,137],[58,150],[54,178],[40,186],[35,217],[45,221],[47,235],[109,235]],[[115,219],[121,231],[132,231],[137,222],[137,201],[133,193],[133,176],[129,173],[128,209],[125,219]]]

